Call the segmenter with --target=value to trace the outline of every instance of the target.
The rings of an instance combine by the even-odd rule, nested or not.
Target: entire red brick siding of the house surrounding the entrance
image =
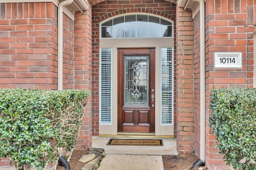
[[[77,149],[88,149],[99,125],[99,23],[143,12],[174,21],[174,134],[179,153],[200,154],[199,15],[164,0],[89,0],[92,9],[64,15],[63,88],[89,90]],[[252,87],[254,1],[206,0],[206,166],[226,168],[209,119],[213,86]],[[213,5],[214,4],[214,5]],[[254,15],[252,15],[254,14]],[[178,16],[176,18],[176,16]],[[0,4],[0,88],[57,89],[57,7],[50,2]],[[176,24],[177,23],[177,24]],[[175,26],[177,25],[177,26]],[[176,34],[177,32],[177,34]],[[176,41],[177,40],[177,41]],[[215,69],[214,52],[242,52],[242,69]],[[2,159],[0,166],[8,166]]]

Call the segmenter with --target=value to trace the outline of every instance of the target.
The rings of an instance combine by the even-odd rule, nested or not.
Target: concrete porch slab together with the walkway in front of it
[[[106,154],[98,170],[164,170],[161,155],[178,154],[175,139],[162,139],[164,146],[106,145],[109,139],[92,137],[92,147],[104,148]]]

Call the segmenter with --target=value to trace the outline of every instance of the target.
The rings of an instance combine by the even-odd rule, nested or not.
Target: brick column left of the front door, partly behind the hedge
[[[92,92],[92,12],[75,13],[74,21],[74,87]],[[77,149],[92,146],[92,99],[88,100],[82,118]]]

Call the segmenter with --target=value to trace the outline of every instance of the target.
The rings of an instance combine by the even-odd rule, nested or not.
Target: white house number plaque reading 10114
[[[214,68],[242,68],[242,53],[214,53]]]

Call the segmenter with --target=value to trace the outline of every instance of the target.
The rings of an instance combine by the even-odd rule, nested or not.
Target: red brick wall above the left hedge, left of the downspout
[[[0,88],[57,89],[57,8],[1,4]]]

